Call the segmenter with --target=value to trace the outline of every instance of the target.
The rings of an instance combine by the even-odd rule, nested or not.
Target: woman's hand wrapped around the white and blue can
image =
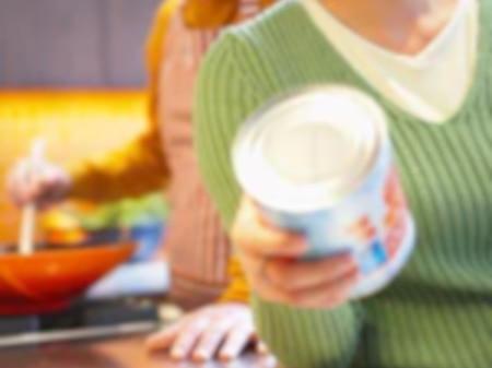
[[[335,308],[348,300],[359,278],[349,254],[304,261],[307,244],[298,235],[270,225],[245,198],[232,239],[251,287],[267,300],[302,308]]]

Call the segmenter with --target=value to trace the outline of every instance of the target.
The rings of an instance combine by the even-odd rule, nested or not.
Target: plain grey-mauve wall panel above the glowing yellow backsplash
[[[140,86],[162,0],[0,0],[0,87]]]

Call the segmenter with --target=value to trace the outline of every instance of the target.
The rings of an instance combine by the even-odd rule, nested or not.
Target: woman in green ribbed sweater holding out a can
[[[255,290],[260,337],[285,366],[490,367],[491,24],[490,0],[289,0],[212,48],[196,96],[201,173]],[[305,241],[269,226],[231,167],[251,112],[319,83],[362,90],[386,111],[418,227],[402,273],[356,301],[354,261],[303,262]]]

